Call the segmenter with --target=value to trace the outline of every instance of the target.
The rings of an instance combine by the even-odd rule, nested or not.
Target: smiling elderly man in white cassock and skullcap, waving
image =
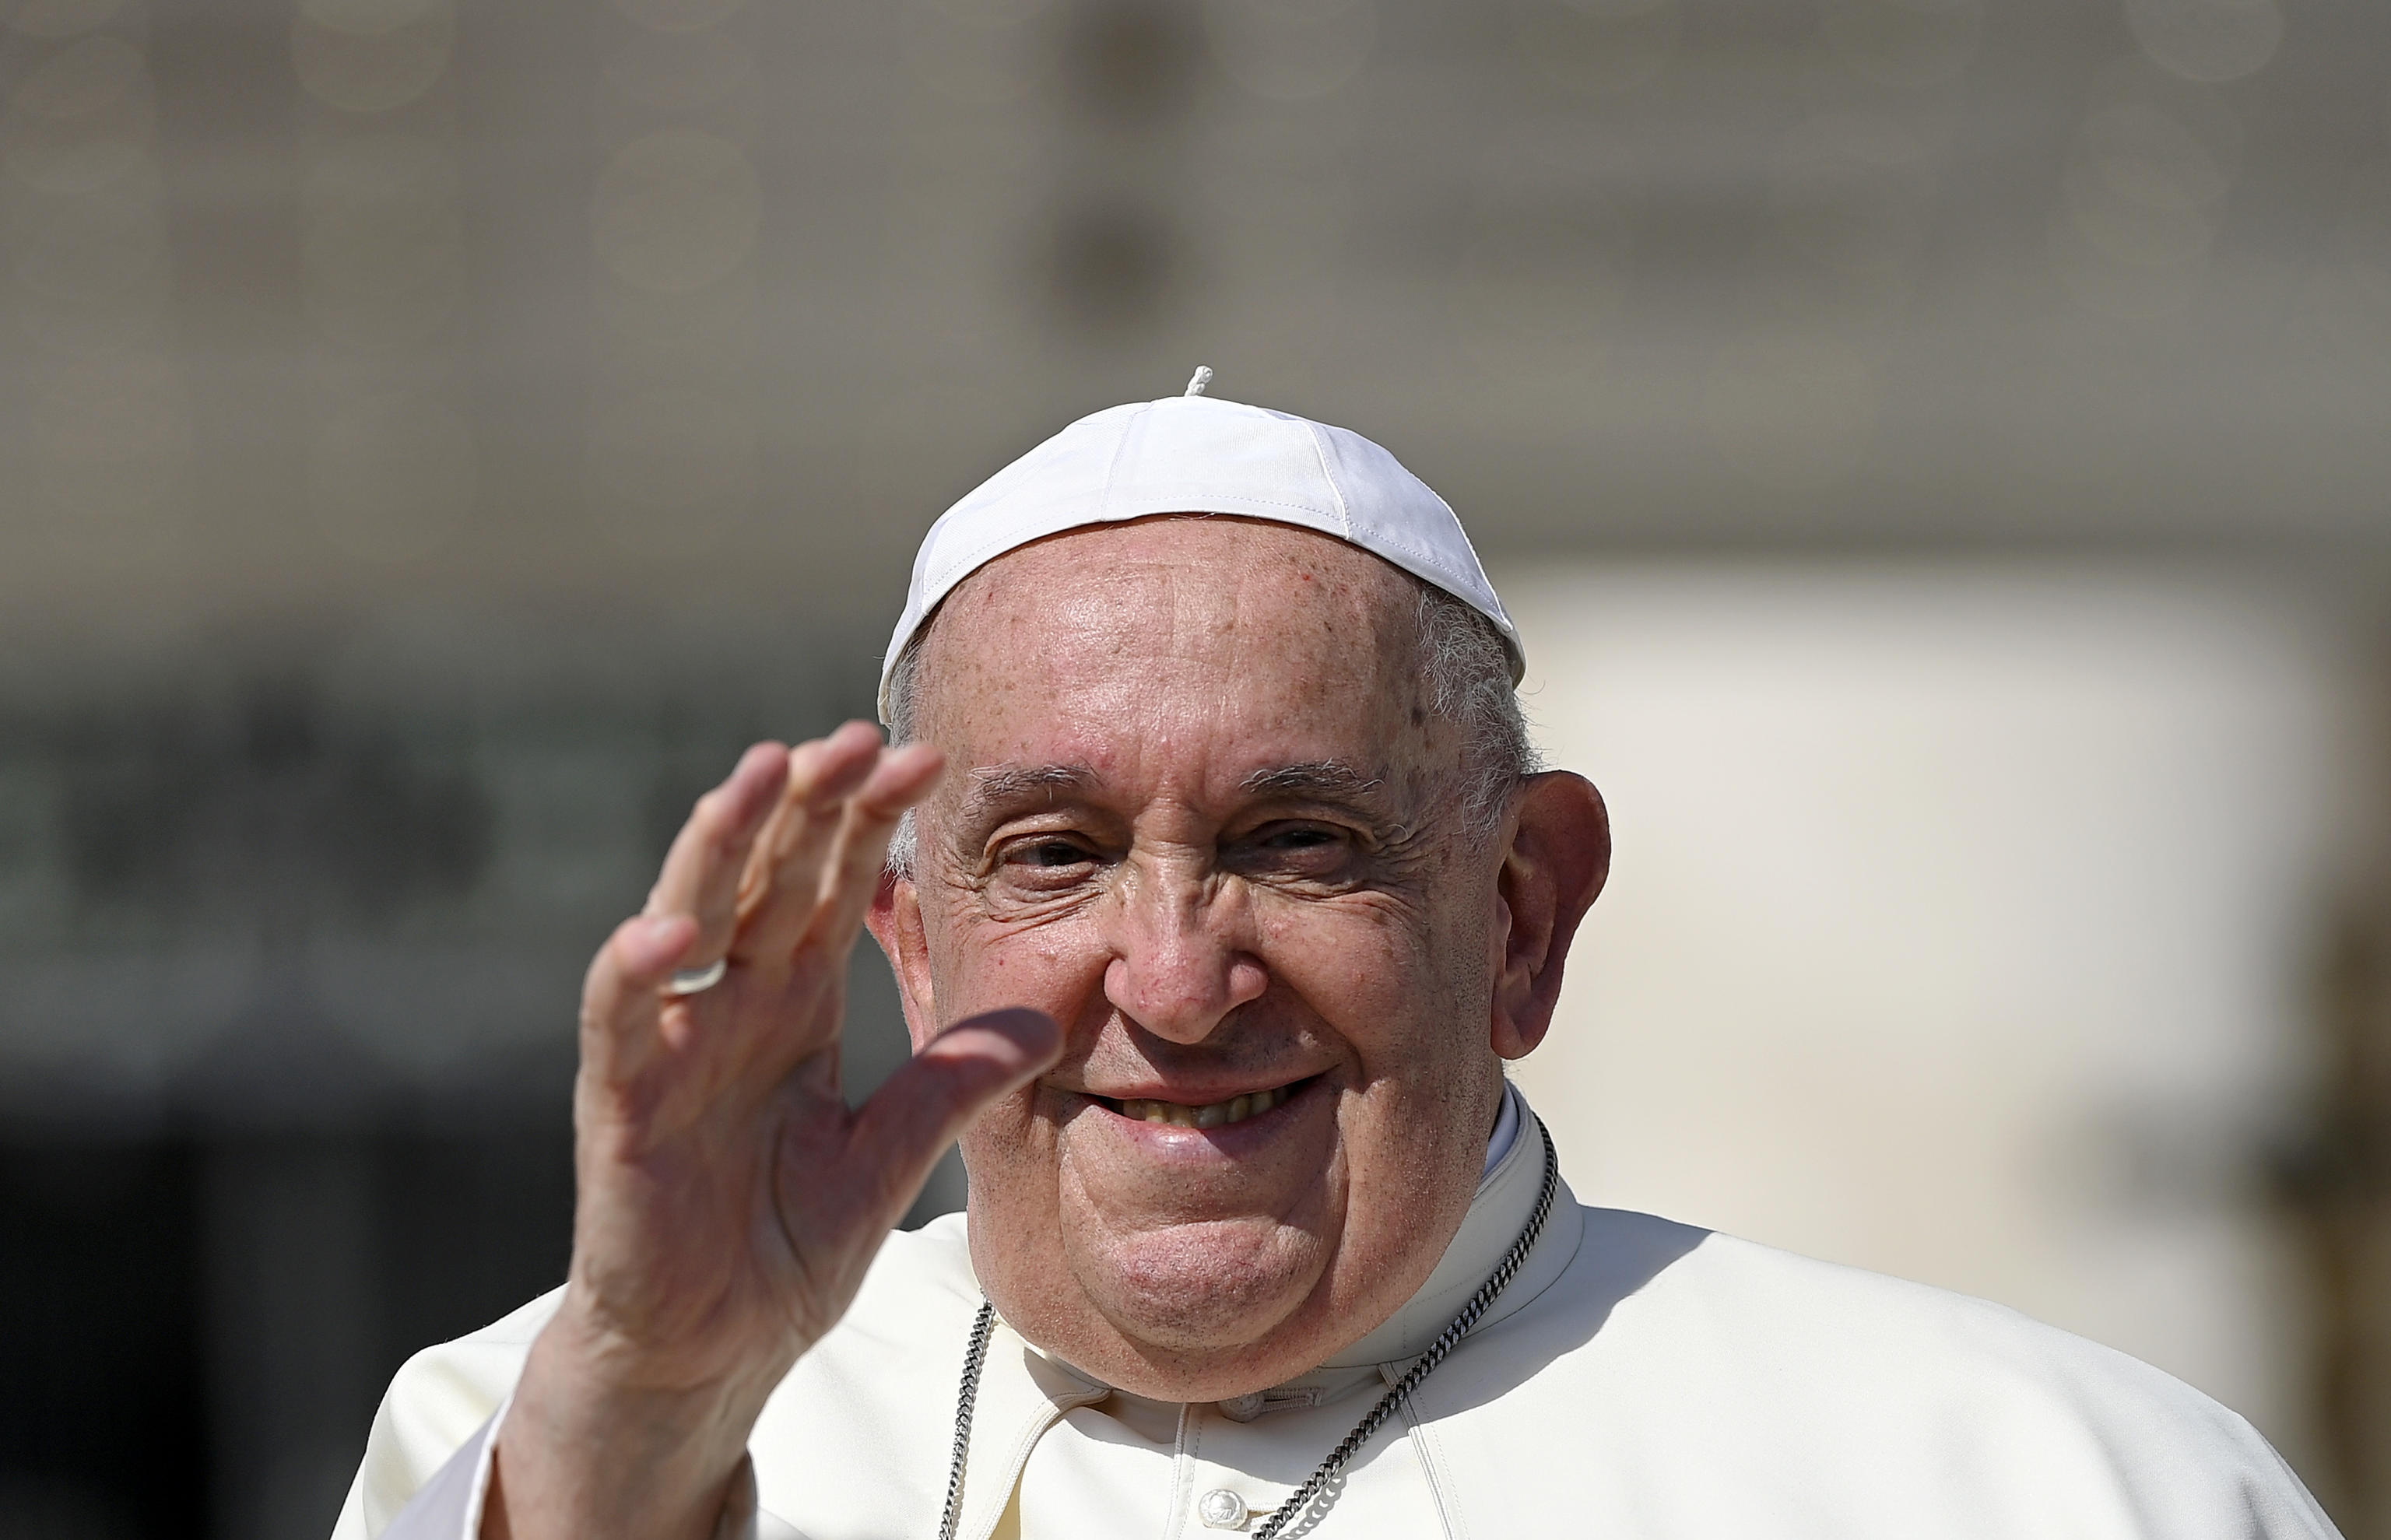
[[[751,748],[598,952],[569,1282],[399,1373],[340,1540],[2331,1535],[2130,1358],[1578,1208],[1502,1064],[1609,832],[1516,679],[1351,433],[1191,387],[997,473],[897,746]],[[916,1057],[849,1110],[863,925]]]

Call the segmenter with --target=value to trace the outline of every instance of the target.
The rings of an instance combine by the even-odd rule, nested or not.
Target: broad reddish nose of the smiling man
[[[1105,1000],[1174,1043],[1200,1043],[1270,988],[1234,882],[1133,870],[1119,892]]]

